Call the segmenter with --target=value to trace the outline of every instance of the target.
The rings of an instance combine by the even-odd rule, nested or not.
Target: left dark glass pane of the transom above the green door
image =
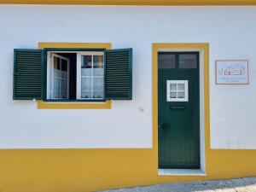
[[[159,53],[158,54],[158,67],[159,68],[175,68],[176,55],[171,53]]]

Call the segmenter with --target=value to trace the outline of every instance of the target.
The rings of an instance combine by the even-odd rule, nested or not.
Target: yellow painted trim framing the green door
[[[209,44],[153,44],[153,148],[158,150],[158,51],[160,49],[201,49],[204,59],[205,163],[210,151]],[[206,166],[207,172],[207,166]]]

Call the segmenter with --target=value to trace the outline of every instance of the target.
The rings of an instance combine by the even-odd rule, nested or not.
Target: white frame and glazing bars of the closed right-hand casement
[[[77,100],[104,100],[105,98],[105,74],[103,74],[102,78],[103,78],[103,84],[104,84],[104,90],[103,90],[103,98],[82,98],[82,73],[81,73],[81,68],[82,68],[82,56],[83,55],[92,55],[91,58],[91,69],[92,69],[92,74],[91,74],[91,84],[92,84],[92,96],[93,96],[93,67],[94,67],[94,63],[93,63],[93,55],[102,55],[103,56],[103,70],[105,70],[105,63],[104,63],[104,52],[103,51],[81,51],[81,52],[77,52]]]

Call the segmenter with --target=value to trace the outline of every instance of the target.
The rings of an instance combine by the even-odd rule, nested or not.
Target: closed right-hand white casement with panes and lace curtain
[[[104,98],[104,53],[79,52],[77,55],[77,99]]]

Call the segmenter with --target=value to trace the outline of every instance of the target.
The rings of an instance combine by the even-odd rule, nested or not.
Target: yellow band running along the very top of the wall
[[[0,0],[0,3],[87,5],[256,5],[256,0]]]

